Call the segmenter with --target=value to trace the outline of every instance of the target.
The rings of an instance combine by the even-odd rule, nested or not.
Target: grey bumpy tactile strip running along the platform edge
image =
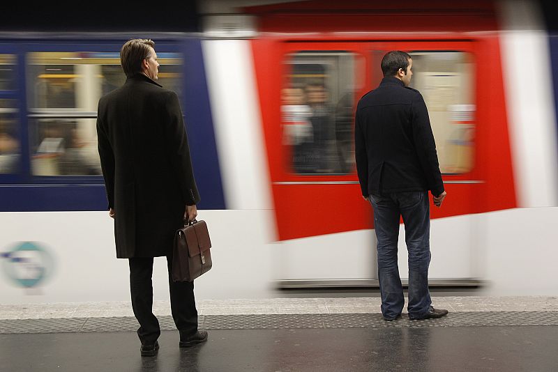
[[[176,330],[171,316],[160,316],[161,330]],[[449,313],[440,319],[409,320],[406,314],[386,322],[379,313],[250,314],[199,316],[205,330],[276,330],[301,328],[421,328],[558,325],[558,311],[481,311]],[[130,316],[0,320],[0,334],[63,332],[135,332]]]

